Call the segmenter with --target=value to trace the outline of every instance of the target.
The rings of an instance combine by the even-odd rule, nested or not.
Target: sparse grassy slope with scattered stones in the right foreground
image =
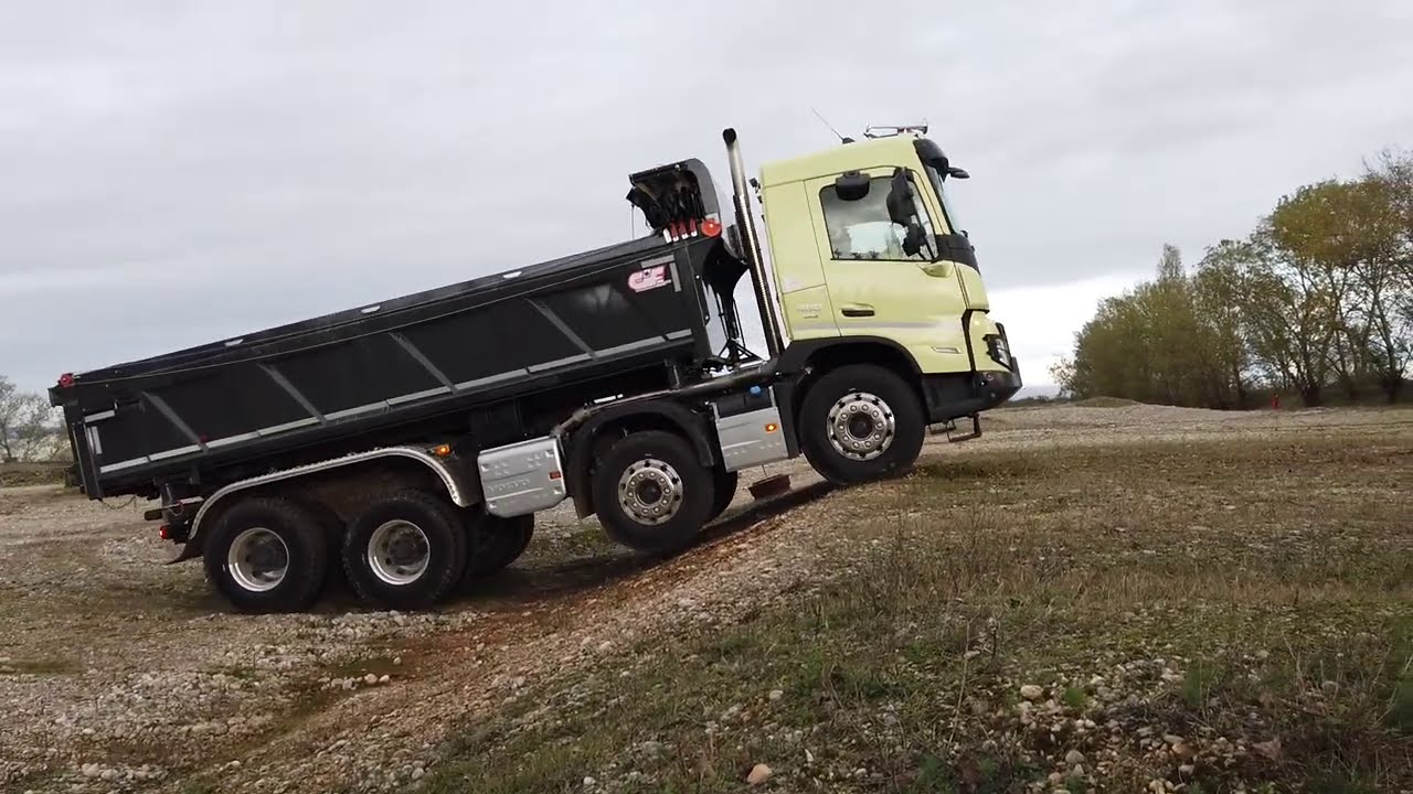
[[[828,581],[538,684],[414,787],[1406,791],[1410,482],[1399,434],[933,461],[836,497]]]

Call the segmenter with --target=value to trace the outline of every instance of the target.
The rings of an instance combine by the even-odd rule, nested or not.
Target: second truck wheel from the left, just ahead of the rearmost
[[[343,534],[343,574],[359,599],[389,609],[441,602],[466,567],[466,531],[454,507],[421,490],[379,499]],[[377,550],[382,550],[379,552]]]

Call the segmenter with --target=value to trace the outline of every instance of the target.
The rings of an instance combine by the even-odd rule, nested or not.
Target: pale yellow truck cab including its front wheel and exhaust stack
[[[750,236],[739,151],[731,130],[725,138],[738,225]],[[926,428],[900,427],[911,420],[900,415],[900,400],[916,397],[920,421],[954,432],[957,420],[969,418],[971,432],[952,435],[965,441],[981,435],[982,411],[1022,386],[947,192],[948,179],[968,177],[926,129],[906,127],[760,167],[770,254],[763,281],[773,294],[757,300],[767,336],[774,333],[767,342],[780,369],[797,373],[793,435],[835,482],[911,463]],[[766,246],[745,247],[747,259],[764,259]],[[766,273],[764,261],[759,267]],[[885,397],[901,389],[911,394]]]

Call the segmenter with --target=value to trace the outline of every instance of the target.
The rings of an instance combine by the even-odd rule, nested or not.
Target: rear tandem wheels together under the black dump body
[[[205,544],[206,576],[242,612],[301,612],[332,574],[360,600],[425,609],[490,576],[526,550],[534,517],[499,519],[422,492],[387,494],[348,526],[280,496],[230,506]]]

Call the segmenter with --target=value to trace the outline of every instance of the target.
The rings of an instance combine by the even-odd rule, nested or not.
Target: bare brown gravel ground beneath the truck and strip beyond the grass
[[[965,445],[1266,434],[1359,435],[1409,410],[1219,414],[1132,405],[998,411]],[[455,721],[626,643],[729,623],[828,571],[815,562],[848,500],[796,461],[794,492],[736,506],[694,550],[647,561],[568,506],[543,516],[503,576],[432,613],[369,612],[331,592],[314,613],[227,613],[199,562],[140,519],[57,487],[0,489],[0,788],[6,791],[379,790],[422,777]],[[743,476],[743,485],[755,473]]]

